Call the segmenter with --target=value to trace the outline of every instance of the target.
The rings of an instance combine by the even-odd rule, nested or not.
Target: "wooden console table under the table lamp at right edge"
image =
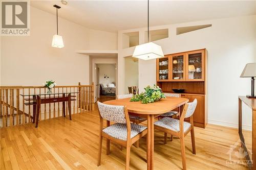
[[[256,170],[256,99],[252,98],[246,98],[246,96],[239,96],[238,97],[239,102],[239,136],[241,140],[241,145],[244,149],[244,151],[247,153],[246,160],[248,161],[248,168]],[[249,106],[252,109],[252,156],[250,158],[248,154],[248,148],[245,144],[245,138],[242,132],[242,102],[245,103],[247,106]]]

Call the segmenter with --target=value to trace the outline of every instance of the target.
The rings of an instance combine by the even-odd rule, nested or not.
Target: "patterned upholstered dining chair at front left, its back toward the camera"
[[[126,147],[125,169],[129,169],[130,151],[133,143],[147,134],[147,127],[131,124],[126,106],[113,106],[97,102],[99,108],[99,153],[98,166],[101,164],[102,137],[107,140],[106,155],[110,154],[110,140]],[[103,129],[103,119],[115,124]]]

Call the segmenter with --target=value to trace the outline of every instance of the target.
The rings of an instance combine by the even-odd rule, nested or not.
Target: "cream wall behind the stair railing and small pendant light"
[[[77,50],[116,50],[117,34],[84,28],[59,19],[65,47],[51,47],[56,16],[31,7],[30,36],[1,37],[1,85],[89,84],[89,57]]]

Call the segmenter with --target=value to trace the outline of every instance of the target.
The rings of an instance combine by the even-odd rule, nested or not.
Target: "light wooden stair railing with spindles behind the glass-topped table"
[[[26,98],[20,94],[45,94],[47,89],[41,86],[0,86],[0,128],[22,125],[32,122],[35,99]],[[78,86],[56,86],[53,93],[79,92],[73,95],[71,101],[72,114],[93,110],[94,84]],[[52,94],[58,95],[58,94]],[[59,94],[60,95],[60,94]],[[42,95],[44,96],[44,95]],[[62,111],[68,112],[68,106],[62,103],[41,105],[39,120],[62,116]]]

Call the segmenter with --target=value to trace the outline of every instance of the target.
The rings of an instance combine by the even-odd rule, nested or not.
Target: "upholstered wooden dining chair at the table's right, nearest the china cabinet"
[[[184,137],[190,132],[191,133],[191,143],[193,154],[196,154],[196,143],[195,143],[195,132],[194,132],[194,123],[193,123],[193,114],[197,107],[197,99],[191,103],[186,103],[180,119],[175,119],[172,117],[164,117],[154,123],[154,127],[157,130],[163,131],[180,138],[181,146],[181,158],[182,158],[182,167],[186,169],[186,158],[185,158],[185,143]],[[189,118],[189,123],[184,122],[184,118]],[[164,140],[164,143],[167,141]]]

